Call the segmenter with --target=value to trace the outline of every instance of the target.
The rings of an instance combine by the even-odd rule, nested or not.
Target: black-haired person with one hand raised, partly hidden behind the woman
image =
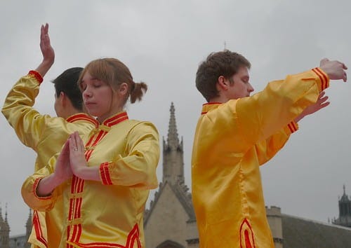
[[[48,25],[41,26],[41,53],[43,61],[37,69],[20,78],[8,92],[2,113],[13,127],[20,141],[37,153],[34,171],[44,167],[48,160],[61,151],[69,135],[78,131],[88,133],[98,123],[83,112],[83,100],[77,81],[83,68],[65,70],[53,80],[55,85],[55,112],[58,117],[42,115],[33,108],[35,97],[46,72],[51,68],[55,53],[48,36]],[[57,226],[60,213],[55,209],[46,214],[34,212],[33,228],[29,237],[34,247],[47,247],[48,242],[58,238]],[[47,232],[47,230],[50,230]]]

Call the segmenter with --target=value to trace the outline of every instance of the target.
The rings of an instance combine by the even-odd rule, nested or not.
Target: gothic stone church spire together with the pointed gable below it
[[[170,111],[168,136],[163,140],[163,177],[145,211],[145,242],[147,248],[197,248],[199,235],[184,180],[183,140],[178,139],[173,103]]]

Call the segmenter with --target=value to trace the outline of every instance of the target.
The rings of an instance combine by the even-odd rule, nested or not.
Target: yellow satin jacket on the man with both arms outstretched
[[[201,248],[274,247],[259,165],[298,130],[329,78],[319,68],[273,81],[251,97],[204,104],[192,151],[192,199]]]

